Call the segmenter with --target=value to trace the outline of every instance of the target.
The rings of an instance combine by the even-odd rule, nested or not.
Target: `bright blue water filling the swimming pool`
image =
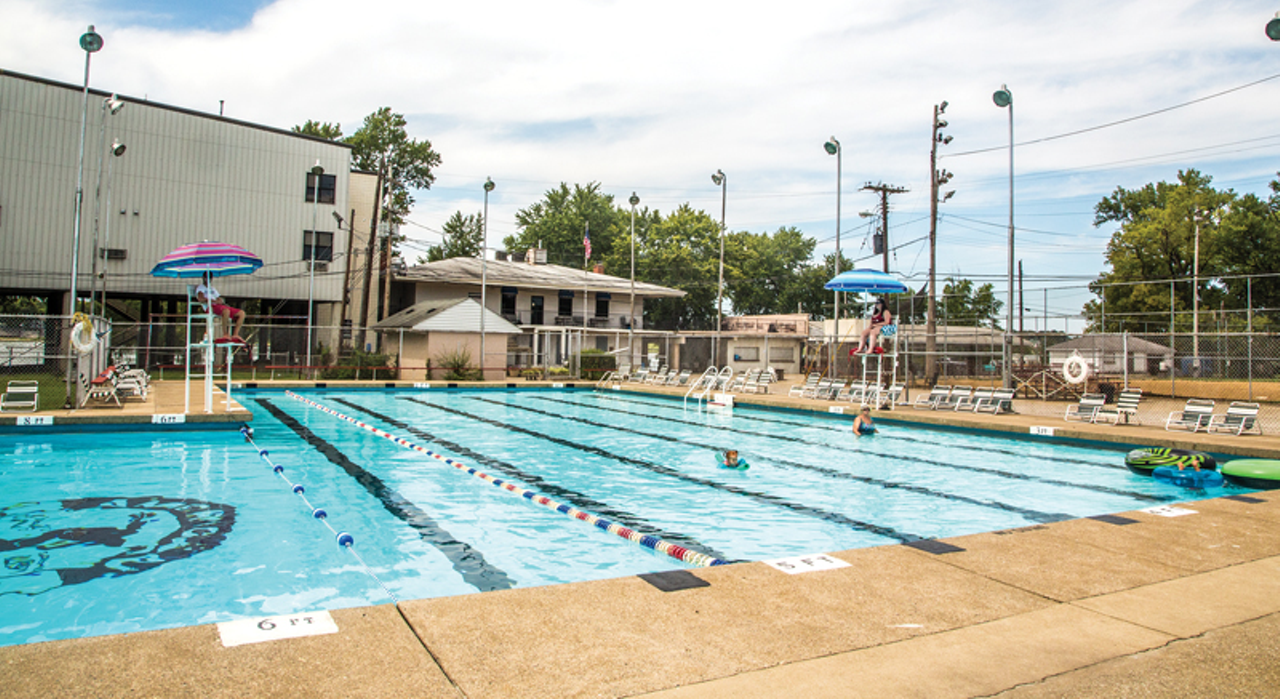
[[[726,561],[911,542],[1217,497],[1124,453],[585,390],[305,397],[643,534]],[[0,645],[685,567],[284,392],[237,426],[0,435]],[[718,467],[737,449],[746,471]],[[365,566],[367,563],[367,568]],[[385,588],[384,588],[385,586]]]

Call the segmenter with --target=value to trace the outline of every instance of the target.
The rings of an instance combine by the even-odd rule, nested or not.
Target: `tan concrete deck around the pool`
[[[877,417],[1280,458],[1270,435]],[[212,625],[8,647],[0,696],[1277,695],[1280,490],[1179,510],[832,552],[849,566],[797,575],[700,568],[708,585],[675,591],[631,576],[339,609],[337,634],[234,648]]]

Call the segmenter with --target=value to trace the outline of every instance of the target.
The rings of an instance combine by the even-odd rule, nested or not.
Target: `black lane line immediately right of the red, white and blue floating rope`
[[[431,433],[420,430],[420,429],[410,425],[408,422],[402,422],[401,420],[397,420],[397,419],[392,417],[390,415],[383,415],[381,412],[378,412],[378,411],[375,411],[372,408],[369,408],[369,407],[365,407],[362,405],[353,403],[353,402],[346,401],[343,398],[329,398],[329,399],[333,401],[333,402],[335,402],[335,403],[342,403],[342,405],[344,405],[344,406],[347,406],[347,407],[349,407],[352,410],[358,410],[358,411],[364,412],[365,415],[371,415],[371,416],[381,420],[383,422],[387,422],[388,425],[392,425],[396,429],[404,430],[404,431],[412,434],[413,437],[419,437],[421,439],[426,439],[428,442],[433,442],[435,444],[439,444],[442,448],[449,449],[451,452],[454,452],[454,453],[457,453],[457,454],[460,454],[462,457],[470,458],[471,461],[475,461],[476,463],[483,463],[485,467],[488,467],[488,469],[490,469],[493,471],[498,471],[499,474],[502,474],[502,475],[504,475],[504,476],[507,476],[509,479],[524,481],[526,485],[529,485],[530,488],[540,492],[541,494],[548,495],[548,497],[554,497],[554,498],[558,498],[561,501],[568,502],[570,504],[572,504],[573,507],[576,507],[579,510],[585,510],[585,511],[588,511],[588,512],[590,512],[593,515],[599,515],[599,516],[602,516],[602,517],[604,517],[607,520],[613,520],[613,521],[625,524],[628,527],[631,527],[631,529],[634,529],[634,530],[636,530],[636,531],[639,531],[641,534],[649,534],[652,536],[658,536],[659,539],[664,539],[667,542],[672,542],[672,543],[680,544],[680,545],[682,545],[682,547],[685,547],[687,549],[699,550],[699,552],[705,553],[705,554],[708,554],[708,556],[710,556],[713,558],[719,558],[721,561],[726,561],[726,562],[730,562],[730,563],[737,562],[737,561],[733,561],[730,557],[724,556],[723,552],[716,550],[716,549],[708,547],[707,544],[699,542],[698,539],[694,539],[692,536],[687,536],[687,535],[680,534],[677,531],[666,531],[663,529],[659,529],[659,527],[649,524],[649,521],[645,520],[644,517],[639,517],[639,516],[632,515],[632,513],[630,513],[627,511],[623,511],[623,510],[617,510],[614,507],[611,507],[608,503],[603,503],[603,502],[593,498],[591,495],[586,495],[584,493],[579,493],[577,490],[572,490],[570,488],[564,488],[564,486],[557,485],[554,483],[550,483],[548,480],[544,480],[538,474],[530,474],[527,471],[524,471],[524,470],[520,469],[520,466],[516,466],[513,463],[507,463],[506,461],[499,461],[497,458],[488,457],[488,456],[485,456],[483,453],[479,453],[479,452],[475,452],[472,449],[468,449],[467,447],[463,447],[462,444],[458,444],[456,442],[449,442],[448,439],[442,439],[442,438],[439,438],[439,437],[436,437],[436,435],[434,435]]]

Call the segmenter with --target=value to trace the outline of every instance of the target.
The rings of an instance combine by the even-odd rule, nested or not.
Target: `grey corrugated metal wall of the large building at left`
[[[105,97],[95,91],[88,97],[82,293],[91,284],[95,211],[101,211],[100,247],[128,251],[124,261],[99,260],[100,269],[109,265],[111,294],[183,293],[182,282],[150,277],[151,266],[179,245],[211,239],[244,246],[266,262],[253,275],[219,280],[224,294],[306,300],[303,230],[315,215],[317,230],[334,233],[334,262],[317,270],[315,300],[342,298],[347,236],[332,213],[349,214],[349,149],[128,97],[111,115],[102,109]],[[81,100],[72,86],[0,73],[0,288],[70,285]],[[106,156],[95,196],[99,154],[116,138],[127,151],[114,163]],[[337,175],[335,204],[306,201],[316,160]]]

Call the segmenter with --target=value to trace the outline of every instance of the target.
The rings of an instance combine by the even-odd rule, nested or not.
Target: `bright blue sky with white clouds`
[[[1115,228],[1094,228],[1093,207],[1117,187],[1196,168],[1266,195],[1280,170],[1280,42],[1265,35],[1277,10],[1280,0],[0,0],[0,67],[79,83],[77,38],[93,24],[99,90],[344,133],[390,106],[443,159],[402,229],[410,261],[454,211],[480,211],[486,177],[497,247],[516,213],[561,182],[718,218],[717,170],[728,229],[795,227],[831,253],[833,136],[841,251],[879,268],[874,219],[859,216],[878,200],[861,187],[906,188],[890,197],[890,268],[913,287],[928,274],[932,119],[945,100],[954,141],[938,147],[940,166],[956,193],[940,206],[938,274],[991,282],[1001,300],[1010,114],[992,93],[1007,84],[1024,306],[1057,329],[1105,269]]]

